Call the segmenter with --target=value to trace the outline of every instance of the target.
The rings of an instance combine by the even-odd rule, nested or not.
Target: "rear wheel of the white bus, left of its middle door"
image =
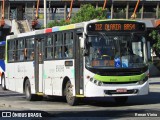
[[[29,80],[26,80],[25,82],[25,96],[26,99],[29,101],[32,101],[35,99],[35,95],[31,94],[31,86]]]

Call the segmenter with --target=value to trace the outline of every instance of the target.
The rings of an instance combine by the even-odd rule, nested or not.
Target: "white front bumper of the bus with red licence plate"
[[[147,95],[149,92],[149,82],[142,85],[105,85],[98,86],[88,82],[85,88],[85,97],[111,97],[111,96],[135,96]]]

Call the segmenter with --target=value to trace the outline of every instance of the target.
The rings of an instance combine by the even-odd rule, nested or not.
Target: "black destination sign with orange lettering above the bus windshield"
[[[88,31],[144,31],[143,23],[91,23],[87,27]]]

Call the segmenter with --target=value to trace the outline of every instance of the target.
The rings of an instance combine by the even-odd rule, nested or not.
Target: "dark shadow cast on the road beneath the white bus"
[[[84,98],[80,99],[78,106],[90,105],[96,107],[119,107],[119,106],[135,106],[135,105],[149,105],[149,104],[159,104],[160,101],[160,92],[150,92],[149,95],[144,96],[130,96],[128,101],[119,105],[116,104],[114,98]],[[49,98],[44,98],[44,101],[47,102],[60,102],[66,103],[64,97],[52,96]]]

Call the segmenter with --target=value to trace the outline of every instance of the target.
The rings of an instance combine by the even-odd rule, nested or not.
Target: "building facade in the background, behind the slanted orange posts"
[[[2,1],[2,0],[1,0]],[[40,0],[39,24],[43,26],[44,1]],[[66,19],[70,8],[71,0],[46,0],[47,23],[51,20]],[[90,3],[95,7],[103,7],[104,0],[74,0],[73,12],[80,8],[82,4]],[[136,6],[137,0],[108,0],[106,4],[106,18],[108,19],[130,19]],[[5,0],[5,27],[10,26],[10,20],[28,20],[35,18],[37,0]],[[0,3],[2,7],[2,2]],[[0,16],[2,11],[0,10]],[[136,19],[147,23],[148,27],[157,26],[160,19],[160,0],[141,0],[136,12]]]

